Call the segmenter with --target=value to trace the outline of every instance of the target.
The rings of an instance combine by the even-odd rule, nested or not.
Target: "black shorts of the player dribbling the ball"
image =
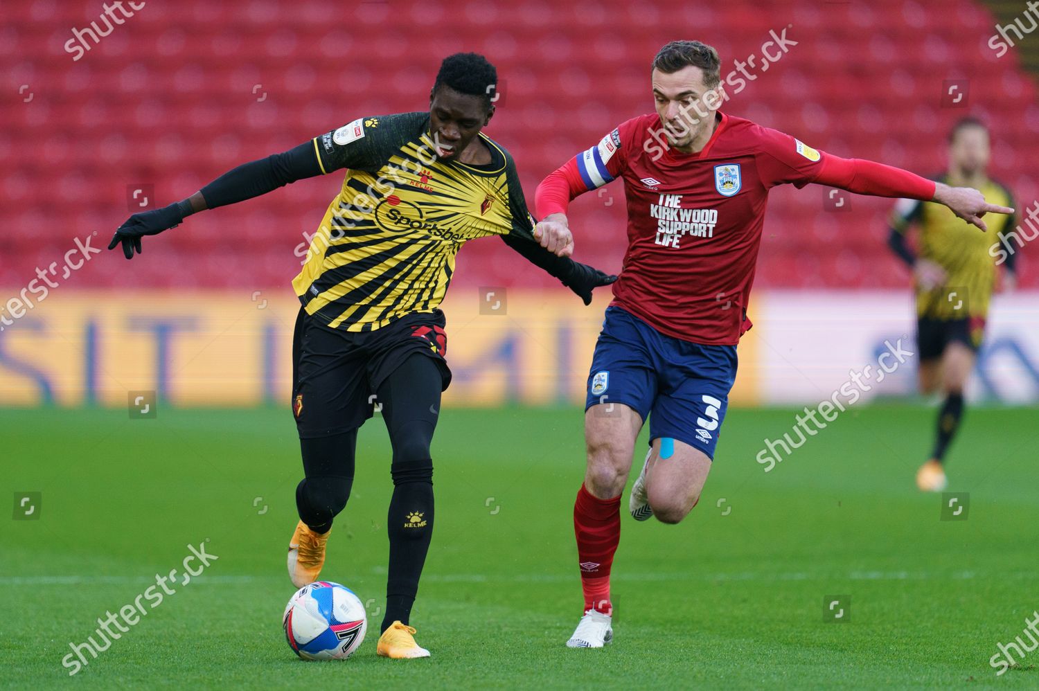
[[[411,353],[432,357],[451,383],[444,358],[444,313],[417,313],[372,331],[330,328],[299,311],[292,339],[292,413],[300,438],[356,429],[372,417],[375,392]]]

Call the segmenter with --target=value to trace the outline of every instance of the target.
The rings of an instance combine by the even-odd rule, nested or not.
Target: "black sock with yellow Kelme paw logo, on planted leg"
[[[393,499],[387,516],[390,534],[390,574],[387,579],[387,612],[381,631],[394,621],[408,623],[419,591],[419,577],[433,535],[432,461],[393,466]]]

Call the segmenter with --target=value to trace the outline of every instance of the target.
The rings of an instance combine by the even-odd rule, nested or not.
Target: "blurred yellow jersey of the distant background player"
[[[952,184],[947,176],[938,182]],[[1003,185],[987,181],[979,188],[991,204],[1014,206]],[[989,254],[993,238],[1016,223],[1014,215],[985,216],[988,233],[957,218],[949,207],[934,202],[901,200],[891,214],[891,228],[906,233],[918,225],[917,254],[945,270],[943,286],[933,290],[915,287],[916,316],[933,319],[985,317],[995,285],[995,260]]]

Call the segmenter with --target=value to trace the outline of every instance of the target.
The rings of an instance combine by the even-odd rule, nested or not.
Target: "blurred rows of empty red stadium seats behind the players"
[[[729,94],[734,114],[838,155],[933,174],[951,124],[980,112],[996,133],[993,175],[1018,198],[1037,193],[1024,153],[1039,134],[1035,84],[1009,58],[992,58],[985,44],[995,20],[973,0],[950,0],[941,11],[903,0],[718,8],[366,0],[344,17],[316,0],[186,0],[149,3],[77,61],[62,49],[71,27],[99,15],[41,0],[8,0],[4,10],[0,67],[16,88],[26,85],[5,103],[0,132],[0,153],[17,162],[0,177],[0,281],[16,284],[56,256],[41,236],[56,195],[107,231],[131,212],[128,186],[152,185],[165,204],[354,117],[423,108],[439,59],[458,50],[484,52],[499,68],[502,100],[488,133],[515,156],[533,204],[542,176],[651,110],[648,63],[675,27],[720,49],[723,77],[750,55],[760,65],[773,30],[788,27],[798,41]],[[967,108],[942,101],[943,80],[957,77],[969,79]],[[151,241],[140,266],[77,282],[287,287],[298,270],[293,248],[338,189],[332,178],[192,218]],[[829,213],[823,194],[773,192],[755,285],[902,287],[883,242],[889,203],[854,197],[851,211]],[[623,208],[619,186],[575,203],[583,260],[619,268]],[[473,243],[463,257],[455,286],[555,285],[537,271],[506,270],[514,256],[500,242]]]

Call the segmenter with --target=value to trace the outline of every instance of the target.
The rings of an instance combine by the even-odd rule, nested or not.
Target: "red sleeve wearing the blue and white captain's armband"
[[[534,192],[535,214],[544,218],[554,213],[566,213],[571,200],[615,180],[623,168],[624,155],[618,127],[541,181]]]

